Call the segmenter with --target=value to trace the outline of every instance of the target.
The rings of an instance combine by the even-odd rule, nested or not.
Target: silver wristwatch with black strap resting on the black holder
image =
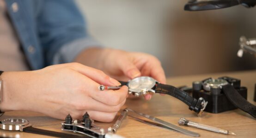
[[[249,103],[244,97],[241,96],[241,94],[238,93],[238,91],[235,89],[238,86],[238,84],[229,83],[228,81],[225,80],[225,78],[227,77],[223,77],[219,79],[213,79],[213,78],[206,79],[202,81],[203,89],[205,91],[210,91],[211,89],[214,89],[215,92],[220,92],[220,90],[222,90],[225,93],[226,97],[229,99],[229,101],[235,107],[243,110],[244,112],[256,118],[256,106]],[[232,80],[230,81],[232,82]],[[237,81],[233,80],[233,82],[237,82]],[[212,92],[214,91],[212,90]]]

